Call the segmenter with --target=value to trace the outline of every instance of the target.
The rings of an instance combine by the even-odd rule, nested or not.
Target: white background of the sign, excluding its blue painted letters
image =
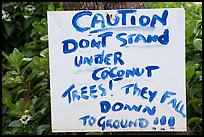
[[[155,28],[140,28],[140,29],[130,29],[130,30],[107,30],[101,31],[89,36],[90,31],[101,29],[101,24],[96,24],[96,28],[91,28],[85,32],[77,31],[72,25],[73,16],[81,11],[53,11],[48,12],[48,36],[49,36],[49,59],[50,59],[50,87],[51,87],[51,115],[52,115],[52,131],[53,132],[88,132],[88,131],[154,131],[154,127],[157,131],[163,131],[161,128],[164,128],[165,131],[186,131],[186,117],[182,117],[180,113],[175,111],[175,108],[172,108],[172,104],[168,104],[172,99],[176,98],[176,103],[178,104],[178,109],[180,110],[182,104],[183,113],[186,115],[186,90],[185,90],[185,13],[184,9],[137,9],[136,14],[127,14],[127,25],[130,24],[130,18],[132,15],[136,17],[136,26],[140,26],[139,17],[141,15],[148,16],[150,22],[152,16],[157,14],[161,17],[164,10],[168,10],[168,16],[166,18],[166,25],[162,25],[157,21]],[[90,10],[91,11],[91,10]],[[122,18],[121,14],[117,13],[117,10],[92,10],[91,16],[83,16],[79,18],[78,24],[80,26],[89,27],[93,16],[96,13],[100,13],[106,17],[106,14],[112,14],[113,17],[117,14],[120,19]],[[101,18],[98,18],[101,19]],[[105,18],[106,19],[106,18]],[[108,26],[105,21],[105,28],[114,28],[114,27],[124,27],[121,20],[116,26]],[[149,25],[147,25],[149,26]],[[144,43],[142,40],[138,43],[127,44],[125,47],[120,47],[122,42],[116,38],[116,35],[119,33],[129,34],[142,34],[147,35],[162,35],[164,30],[169,30],[169,42],[167,45],[162,45],[161,43],[152,42]],[[96,41],[101,40],[97,35],[104,32],[112,31],[112,37],[107,37],[106,47],[98,48],[78,48],[75,52],[64,54],[63,53],[63,43],[62,41],[67,39],[74,39],[79,42],[81,39],[88,39],[90,42],[92,39]],[[127,38],[127,36],[123,36]],[[135,37],[133,37],[135,38]],[[134,40],[134,39],[133,39]],[[70,45],[70,48],[71,45]],[[113,56],[110,57],[111,65],[106,65],[104,62],[102,64],[82,64],[79,67],[76,67],[74,64],[74,59],[77,56],[94,56],[96,54],[102,53],[112,53],[121,52],[121,59],[124,61],[124,65],[117,63],[113,64]],[[140,71],[146,66],[159,66],[159,69],[152,71],[152,77],[147,77],[147,71],[144,71],[144,74],[140,77],[134,76],[130,78],[123,78],[119,81],[113,81],[112,90],[109,89],[109,81],[111,80],[108,77],[105,80],[99,79],[97,81],[92,79],[92,73],[94,70],[101,67],[114,68],[116,70],[126,70],[132,69],[133,67],[139,68]],[[104,69],[105,70],[105,69]],[[109,70],[109,69],[106,69]],[[114,71],[117,72],[117,71]],[[97,74],[99,76],[99,74]],[[143,96],[147,99],[133,95],[133,88],[130,89],[129,94],[125,94],[124,89],[121,87],[127,84],[137,83],[138,87],[142,89],[147,87],[147,94]],[[81,96],[81,88],[87,86],[87,100],[82,97],[80,100],[75,99],[68,103],[68,96],[62,97],[62,94],[72,85],[75,85],[75,88],[71,90],[71,93],[74,90],[77,90],[79,96]],[[101,96],[102,91],[98,88],[98,85],[105,88],[106,95]],[[97,92],[94,95],[97,95],[96,99],[90,97],[89,87],[91,85],[96,85]],[[155,98],[152,102],[149,102],[149,93],[148,91],[158,91]],[[164,103],[160,103],[162,96],[165,91],[175,92],[176,95],[172,95],[165,100]],[[100,108],[101,101],[108,101],[110,104],[120,102],[122,104],[132,105],[142,105],[141,110],[136,112],[134,110],[120,110],[113,112],[110,110],[107,113],[102,113]],[[154,115],[149,115],[147,112],[142,112],[143,108],[148,106],[150,108],[156,107]],[[83,121],[79,118],[90,115],[90,117],[96,118],[96,122],[90,126],[87,121],[86,125],[83,125]],[[114,127],[105,127],[104,130],[97,124],[98,120],[105,116],[105,119],[101,120],[101,123],[106,122],[108,119],[121,121],[137,120],[137,125],[134,127],[121,128],[121,126],[116,129]],[[167,121],[164,125],[160,122],[162,116],[167,118]],[[174,129],[170,129],[168,120],[170,116],[175,117]],[[158,124],[154,124],[155,118],[158,117]],[[146,119],[149,124],[145,128],[139,127],[138,118]],[[90,121],[93,122],[93,119]],[[115,122],[115,127],[117,127],[117,122]]]

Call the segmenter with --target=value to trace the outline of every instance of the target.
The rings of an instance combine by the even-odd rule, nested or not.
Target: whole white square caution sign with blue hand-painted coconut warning
[[[185,12],[49,11],[53,132],[186,131]]]

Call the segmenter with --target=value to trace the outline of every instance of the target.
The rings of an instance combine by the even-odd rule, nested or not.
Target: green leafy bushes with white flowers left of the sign
[[[46,14],[62,10],[61,3],[2,7],[2,134],[51,134]]]

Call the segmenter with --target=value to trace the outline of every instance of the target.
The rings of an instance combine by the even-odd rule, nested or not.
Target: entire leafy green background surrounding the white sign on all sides
[[[81,5],[83,6],[81,6]],[[95,4],[95,5],[94,5]],[[71,6],[72,5],[72,6]],[[192,2],[3,2],[2,134],[139,135],[138,132],[52,133],[47,11],[119,8],[184,8],[188,132],[202,135],[202,4]],[[23,124],[21,121],[27,122]],[[141,133],[152,134],[152,133]]]

